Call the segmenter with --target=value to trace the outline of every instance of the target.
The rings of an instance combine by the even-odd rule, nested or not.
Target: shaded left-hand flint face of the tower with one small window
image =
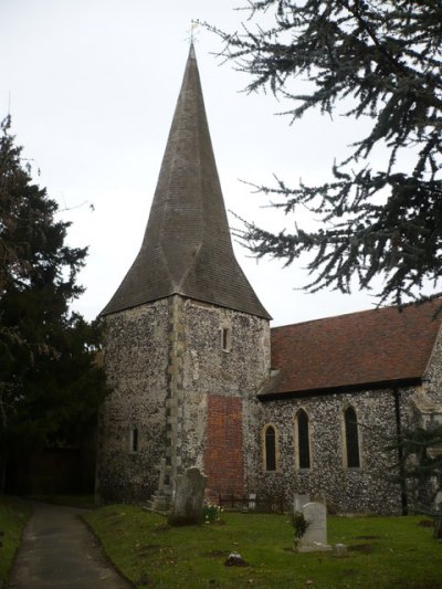
[[[98,423],[97,494],[145,502],[166,455],[170,304],[168,299],[106,316],[105,369],[113,389]],[[138,430],[131,453],[130,429]]]

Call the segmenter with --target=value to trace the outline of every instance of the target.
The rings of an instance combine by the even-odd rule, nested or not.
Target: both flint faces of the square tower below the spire
[[[229,351],[222,349],[223,328],[231,332]],[[256,421],[256,393],[270,375],[266,319],[178,295],[108,315],[105,369],[113,392],[98,432],[97,493],[104,501],[147,501],[158,487],[161,459],[172,483],[197,466],[217,472],[229,488],[240,482],[245,488],[253,465],[243,469],[242,457],[249,460],[251,438],[244,435],[245,446],[240,440],[235,464],[242,472],[232,471],[229,444]],[[227,414],[208,428],[210,396],[234,399],[240,421]],[[130,454],[133,427],[139,450]],[[206,452],[208,445],[215,452]],[[209,464],[213,457],[217,464]]]

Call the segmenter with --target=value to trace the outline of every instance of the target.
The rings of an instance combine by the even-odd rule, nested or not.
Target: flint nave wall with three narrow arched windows
[[[402,402],[413,392],[402,391]],[[343,414],[352,406],[359,423],[360,467],[345,466]],[[295,464],[295,416],[303,408],[309,419],[311,469]],[[263,452],[262,429],[273,423],[278,435],[278,465],[265,472],[261,457],[256,491],[260,494],[292,497],[293,493],[322,494],[340,513],[400,514],[398,452],[387,450],[396,438],[396,410],[392,390],[323,395],[262,404],[256,427],[256,446]],[[254,491],[254,490],[250,490]]]

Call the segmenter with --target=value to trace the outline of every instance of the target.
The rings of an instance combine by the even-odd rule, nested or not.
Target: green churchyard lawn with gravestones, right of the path
[[[347,555],[295,554],[287,516],[223,513],[222,523],[169,528],[129,505],[85,519],[136,587],[164,588],[442,588],[442,543],[422,517],[329,517],[328,541]],[[246,567],[227,567],[231,551]]]

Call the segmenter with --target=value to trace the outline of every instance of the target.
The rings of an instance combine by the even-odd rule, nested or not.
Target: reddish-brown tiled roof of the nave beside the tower
[[[272,329],[270,393],[341,389],[422,378],[435,344],[441,301],[386,307]]]

